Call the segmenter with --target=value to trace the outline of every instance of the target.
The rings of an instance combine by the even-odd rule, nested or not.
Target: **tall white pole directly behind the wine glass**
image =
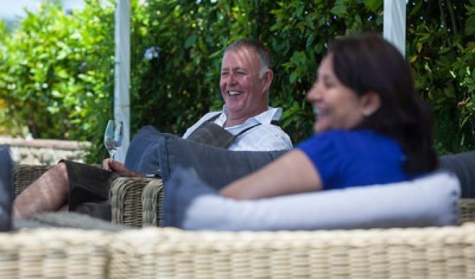
[[[116,1],[116,65],[114,71],[114,118],[124,123],[122,147],[114,158],[124,162],[130,142],[130,1]]]

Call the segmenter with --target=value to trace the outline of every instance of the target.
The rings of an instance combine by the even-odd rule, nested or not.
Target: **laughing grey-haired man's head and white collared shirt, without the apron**
[[[224,50],[221,65],[223,112],[204,115],[183,137],[195,138],[196,128],[213,119],[231,134],[243,134],[228,147],[230,150],[290,149],[292,143],[287,134],[271,125],[279,120],[282,109],[268,107],[268,90],[273,80],[270,64],[268,50],[258,41],[242,39],[231,43]]]

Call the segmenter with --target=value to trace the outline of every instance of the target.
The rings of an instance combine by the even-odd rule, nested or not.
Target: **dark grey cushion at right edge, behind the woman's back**
[[[448,169],[458,176],[462,198],[475,198],[475,152],[445,155],[439,159],[442,169]]]

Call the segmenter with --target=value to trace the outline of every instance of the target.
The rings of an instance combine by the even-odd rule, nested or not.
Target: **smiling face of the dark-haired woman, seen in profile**
[[[321,61],[317,80],[307,93],[315,113],[315,132],[350,130],[363,121],[363,101],[356,92],[341,84],[333,72],[331,54]]]

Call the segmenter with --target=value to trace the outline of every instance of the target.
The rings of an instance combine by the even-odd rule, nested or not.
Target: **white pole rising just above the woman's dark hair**
[[[384,0],[383,37],[405,55],[405,0]]]

